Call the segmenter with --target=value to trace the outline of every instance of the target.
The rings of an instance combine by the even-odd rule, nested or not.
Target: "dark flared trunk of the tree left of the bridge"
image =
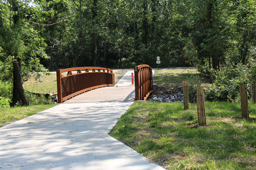
[[[23,105],[28,105],[28,100],[22,87],[19,63],[13,62],[13,99],[11,106],[14,106],[19,100],[22,100]]]

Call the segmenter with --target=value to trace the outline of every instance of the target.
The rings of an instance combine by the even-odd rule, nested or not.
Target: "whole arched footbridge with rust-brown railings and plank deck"
[[[131,84],[134,72],[135,85]],[[127,71],[115,84],[113,70],[103,67],[76,67],[57,70],[59,103],[90,103],[146,100],[152,92],[152,68],[139,65]]]

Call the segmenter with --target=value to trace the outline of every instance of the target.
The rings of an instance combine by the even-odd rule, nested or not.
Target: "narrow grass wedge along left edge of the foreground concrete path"
[[[57,104],[31,105],[29,107],[0,108],[0,127],[18,121],[32,114],[42,112]]]

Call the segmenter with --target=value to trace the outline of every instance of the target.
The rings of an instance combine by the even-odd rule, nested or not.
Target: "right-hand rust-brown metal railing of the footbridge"
[[[134,67],[135,100],[146,100],[153,92],[152,67],[139,65]]]

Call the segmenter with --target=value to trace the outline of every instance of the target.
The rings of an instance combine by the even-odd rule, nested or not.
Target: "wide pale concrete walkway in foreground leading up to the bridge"
[[[131,104],[60,104],[4,126],[0,169],[163,169],[108,135]]]

